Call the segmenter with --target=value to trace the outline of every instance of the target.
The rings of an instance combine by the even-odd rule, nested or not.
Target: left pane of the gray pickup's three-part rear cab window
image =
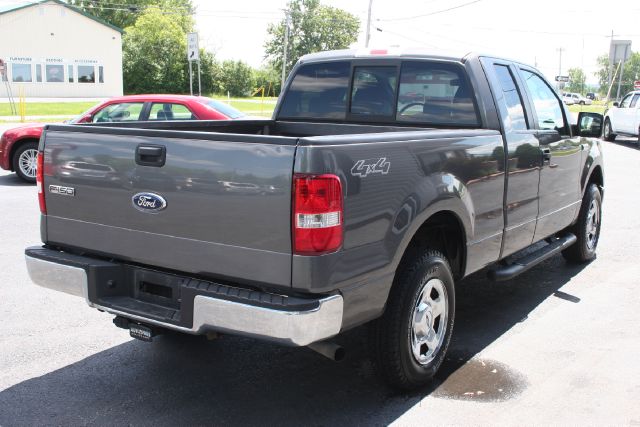
[[[302,66],[282,102],[280,117],[343,120],[350,72],[349,62]]]

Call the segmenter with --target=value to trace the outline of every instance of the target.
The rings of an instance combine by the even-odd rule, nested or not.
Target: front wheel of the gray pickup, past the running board
[[[595,218],[594,215],[596,215]],[[589,184],[582,198],[578,221],[570,228],[578,241],[562,251],[562,256],[567,261],[576,264],[594,259],[600,240],[601,224],[602,195],[597,185]]]

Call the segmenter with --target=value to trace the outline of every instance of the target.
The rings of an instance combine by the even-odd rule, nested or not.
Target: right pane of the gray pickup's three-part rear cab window
[[[400,72],[400,122],[477,126],[473,90],[464,70],[453,64],[405,62]]]

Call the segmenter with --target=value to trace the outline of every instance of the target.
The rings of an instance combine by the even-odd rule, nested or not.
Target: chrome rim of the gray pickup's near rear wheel
[[[420,290],[411,316],[411,352],[421,365],[436,358],[447,330],[449,300],[440,279],[429,279]]]

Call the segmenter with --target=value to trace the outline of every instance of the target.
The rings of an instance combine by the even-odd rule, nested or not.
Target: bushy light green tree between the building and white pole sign
[[[148,7],[123,37],[126,93],[188,91],[187,41],[184,29],[157,7]]]

